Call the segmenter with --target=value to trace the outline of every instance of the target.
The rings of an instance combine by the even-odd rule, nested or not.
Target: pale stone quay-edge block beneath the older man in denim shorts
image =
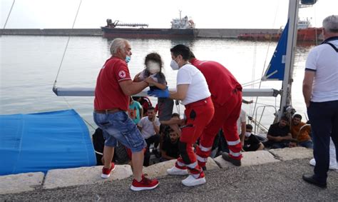
[[[54,169],[48,171],[43,188],[58,188],[77,186],[105,181],[115,181],[128,178],[133,175],[130,165],[116,165],[109,178],[101,178],[103,166],[91,166],[81,168]]]

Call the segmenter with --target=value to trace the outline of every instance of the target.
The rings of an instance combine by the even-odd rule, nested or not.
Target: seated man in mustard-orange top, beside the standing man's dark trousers
[[[306,148],[313,148],[311,140],[311,129],[309,126],[305,126],[306,123],[302,122],[302,116],[295,114],[291,122],[291,134],[292,138],[297,139],[298,146],[304,146]],[[302,128],[304,126],[304,128]],[[302,130],[300,130],[302,128]]]

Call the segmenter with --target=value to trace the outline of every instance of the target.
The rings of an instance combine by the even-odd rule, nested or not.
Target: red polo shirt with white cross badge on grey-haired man
[[[103,65],[96,80],[94,108],[106,110],[120,108],[127,111],[129,108],[129,96],[123,94],[121,81],[131,80],[126,61],[117,57],[111,57]]]

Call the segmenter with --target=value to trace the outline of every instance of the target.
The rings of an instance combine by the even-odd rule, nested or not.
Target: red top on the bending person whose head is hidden
[[[234,89],[242,91],[242,86],[229,70],[215,61],[199,61],[193,59],[193,66],[197,67],[207,80],[212,102],[215,106],[222,106],[230,99]]]

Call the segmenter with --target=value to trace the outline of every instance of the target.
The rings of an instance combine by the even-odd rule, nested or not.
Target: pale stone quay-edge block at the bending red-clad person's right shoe
[[[269,151],[247,151],[243,152],[242,155],[242,166],[253,166],[279,161]],[[237,167],[229,161],[225,161],[222,156],[218,156],[217,158],[214,158],[214,160],[221,168]]]

